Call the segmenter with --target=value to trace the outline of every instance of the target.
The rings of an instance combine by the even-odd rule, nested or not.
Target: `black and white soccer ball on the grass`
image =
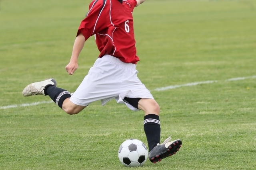
[[[142,141],[128,139],[119,147],[118,158],[124,166],[142,166],[148,159],[148,149]]]

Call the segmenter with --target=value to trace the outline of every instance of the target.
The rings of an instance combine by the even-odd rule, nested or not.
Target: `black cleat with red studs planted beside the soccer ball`
[[[153,162],[154,164],[156,162],[160,162],[163,158],[172,156],[173,154],[176,154],[176,152],[180,150],[182,141],[180,139],[170,141],[171,139],[171,137],[168,137],[164,141],[164,143],[162,143],[162,145],[156,145],[156,147],[154,147],[154,149],[152,149],[149,152],[148,157],[151,162]]]

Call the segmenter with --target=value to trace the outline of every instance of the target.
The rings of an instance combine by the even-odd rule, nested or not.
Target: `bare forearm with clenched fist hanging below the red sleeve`
[[[66,70],[67,70],[68,74],[71,74],[71,75],[74,74],[74,72],[78,68],[78,56],[84,47],[84,42],[85,42],[84,35],[82,33],[80,33],[76,37],[76,40],[74,42],[70,62],[66,66]]]

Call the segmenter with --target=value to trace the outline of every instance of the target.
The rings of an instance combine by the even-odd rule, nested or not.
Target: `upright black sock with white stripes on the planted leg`
[[[160,121],[158,115],[150,114],[144,117],[144,131],[148,140],[149,151],[151,151],[160,143]]]

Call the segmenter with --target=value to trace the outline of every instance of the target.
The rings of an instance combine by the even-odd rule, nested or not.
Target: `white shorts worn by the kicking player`
[[[116,57],[104,55],[95,61],[70,101],[79,106],[88,106],[96,100],[101,100],[104,106],[115,98],[116,102],[126,104],[133,111],[139,111],[124,102],[124,97],[154,98],[139,80],[137,73],[136,64],[124,63]]]

